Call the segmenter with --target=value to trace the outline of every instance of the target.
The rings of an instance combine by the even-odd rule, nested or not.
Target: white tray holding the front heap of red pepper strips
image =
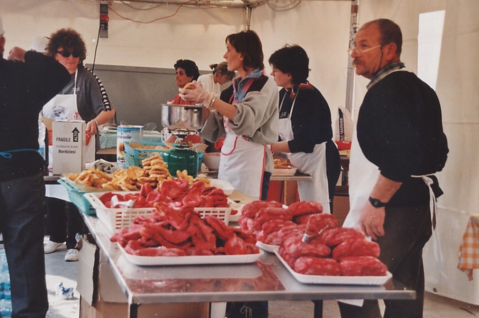
[[[258,254],[241,255],[205,255],[205,256],[138,256],[128,254],[123,247],[118,244],[125,258],[140,266],[155,265],[204,265],[204,264],[246,264],[259,260],[263,251]]]

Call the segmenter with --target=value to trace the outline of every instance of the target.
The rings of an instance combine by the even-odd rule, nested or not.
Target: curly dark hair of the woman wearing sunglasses
[[[78,52],[80,54],[80,62],[83,62],[86,58],[87,49],[85,41],[83,41],[80,33],[74,29],[63,28],[50,35],[50,42],[46,46],[47,55],[55,56],[60,47]]]

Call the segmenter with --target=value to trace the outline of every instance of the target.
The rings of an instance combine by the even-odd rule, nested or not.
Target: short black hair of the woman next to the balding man
[[[310,75],[310,59],[299,45],[285,45],[271,54],[268,62],[283,73],[290,73],[295,85],[305,83]]]

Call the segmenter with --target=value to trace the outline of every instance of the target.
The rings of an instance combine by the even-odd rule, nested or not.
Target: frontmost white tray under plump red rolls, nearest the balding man
[[[278,249],[274,252],[280,259],[281,263],[293,275],[294,278],[303,284],[334,284],[334,285],[383,285],[392,278],[392,274],[387,272],[386,276],[321,276],[321,275],[305,275],[296,273],[286,261],[278,253]]]

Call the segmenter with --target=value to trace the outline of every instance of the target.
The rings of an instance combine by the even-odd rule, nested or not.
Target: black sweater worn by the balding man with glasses
[[[357,138],[364,156],[383,176],[404,182],[389,205],[429,201],[424,181],[411,176],[442,170],[449,152],[441,106],[431,87],[410,72],[387,75],[364,96]]]

